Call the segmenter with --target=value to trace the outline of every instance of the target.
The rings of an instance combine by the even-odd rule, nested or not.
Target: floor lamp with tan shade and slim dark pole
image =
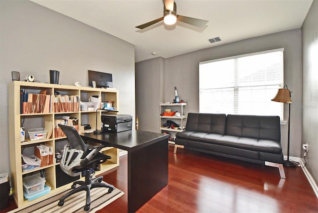
[[[285,89],[286,87],[286,89]],[[274,99],[272,99],[272,101],[274,102],[281,102],[281,103],[285,103],[285,104],[288,104],[288,148],[287,148],[287,160],[284,160],[284,166],[287,166],[287,167],[297,167],[298,165],[293,162],[293,161],[290,161],[289,160],[289,145],[290,145],[290,104],[292,104],[292,100],[290,99],[291,98],[291,95],[292,92],[290,92],[288,90],[288,87],[287,85],[285,84],[284,85],[284,88],[283,89],[278,89],[278,92],[277,92],[277,95],[275,96]]]

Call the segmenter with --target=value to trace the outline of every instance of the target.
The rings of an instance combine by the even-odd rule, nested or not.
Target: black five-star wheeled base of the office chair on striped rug
[[[60,201],[58,203],[58,206],[62,207],[64,205],[65,199],[70,197],[71,195],[74,195],[75,193],[78,193],[80,191],[86,191],[86,203],[84,206],[84,211],[88,211],[90,208],[90,190],[97,187],[105,187],[108,188],[108,193],[111,193],[114,190],[114,186],[107,184],[107,183],[101,183],[103,180],[103,177],[97,177],[92,179],[92,175],[90,175],[90,169],[85,170],[85,181],[75,181],[71,188],[73,189],[71,192],[68,192],[65,194],[62,198],[60,198]],[[80,185],[78,188],[76,188],[76,185]]]

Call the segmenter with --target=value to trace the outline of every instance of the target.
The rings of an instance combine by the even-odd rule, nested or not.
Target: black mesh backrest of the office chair
[[[72,126],[58,124],[66,134],[69,143],[64,146],[63,156],[60,162],[61,169],[70,176],[80,175],[74,168],[80,166],[81,161],[88,154],[88,149],[81,139],[79,132]]]

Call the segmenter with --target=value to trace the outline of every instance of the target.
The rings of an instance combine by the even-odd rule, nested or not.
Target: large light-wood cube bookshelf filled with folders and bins
[[[39,94],[41,91],[46,91],[47,95],[50,95],[50,110],[49,112],[41,113],[21,113],[20,102],[21,90],[23,92]],[[72,182],[68,184],[63,184],[62,186],[59,182],[58,171],[60,169],[60,163],[56,162],[55,154],[61,150],[62,147],[67,143],[67,137],[56,137],[54,128],[56,119],[61,119],[63,116],[70,116],[78,119],[78,124],[89,123],[91,128],[96,128],[96,111],[81,111],[80,101],[88,102],[88,98],[91,95],[98,95],[100,101],[113,102],[114,107],[118,110],[118,91],[110,89],[99,89],[99,88],[87,88],[87,87],[76,87],[69,85],[56,85],[56,84],[44,84],[36,82],[23,82],[23,81],[13,81],[8,84],[8,101],[9,101],[9,146],[10,146],[10,176],[11,183],[13,187],[13,196],[18,208],[30,206],[34,203],[41,202],[42,200],[67,189],[70,189]],[[70,111],[56,111],[53,98],[55,94],[60,94],[61,96],[76,96],[79,97],[78,106],[71,107]],[[23,99],[22,99],[23,101]],[[70,107],[66,107],[70,108]],[[101,115],[98,111],[97,115]],[[25,127],[24,131],[27,134],[27,129],[47,127],[45,125],[49,124],[49,129],[52,129],[52,134],[49,138],[40,140],[30,140],[25,137],[26,142],[21,142],[20,139],[20,127]],[[97,126],[101,125],[101,121],[97,122]],[[83,129],[79,126],[79,131]],[[21,154],[26,156],[34,155],[34,147],[37,145],[46,144],[53,148],[53,163],[39,167],[32,170],[22,171],[22,159]],[[106,172],[119,166],[119,151],[113,147],[106,147],[101,150],[102,153],[110,155],[112,159],[107,160],[105,163],[101,164],[99,170],[96,171],[95,175]],[[47,185],[51,187],[51,192],[48,195],[35,199],[33,201],[28,201],[23,197],[23,177],[28,175],[40,175],[45,177]]]

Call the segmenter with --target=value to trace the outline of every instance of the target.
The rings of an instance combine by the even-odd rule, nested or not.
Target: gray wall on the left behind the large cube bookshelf
[[[134,45],[27,0],[0,0],[0,173],[9,172],[7,84],[11,71],[49,82],[88,86],[87,70],[113,74],[120,113],[135,118]],[[134,122],[134,121],[133,121]]]

